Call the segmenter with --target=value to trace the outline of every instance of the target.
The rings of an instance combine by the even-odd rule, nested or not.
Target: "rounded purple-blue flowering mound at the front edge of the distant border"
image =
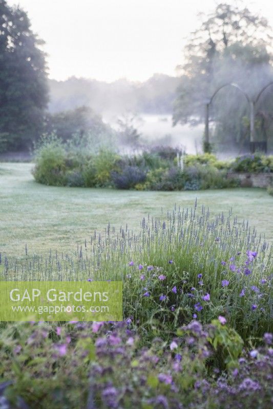
[[[111,179],[117,189],[131,189],[145,180],[146,173],[137,166],[125,166],[121,172],[112,172]]]

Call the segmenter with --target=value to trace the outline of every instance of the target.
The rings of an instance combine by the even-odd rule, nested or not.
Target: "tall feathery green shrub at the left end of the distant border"
[[[44,138],[35,150],[36,165],[33,170],[37,182],[45,185],[66,185],[66,151],[55,136]]]

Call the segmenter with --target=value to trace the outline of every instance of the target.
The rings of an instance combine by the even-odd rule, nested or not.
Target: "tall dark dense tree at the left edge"
[[[43,130],[48,103],[43,43],[27,13],[0,0],[0,151],[28,149]]]

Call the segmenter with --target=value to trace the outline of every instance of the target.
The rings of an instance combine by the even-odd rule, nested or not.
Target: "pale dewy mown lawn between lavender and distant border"
[[[0,164],[0,252],[22,257],[50,248],[71,252],[77,243],[108,222],[137,230],[143,216],[172,210],[175,203],[209,207],[211,215],[233,214],[248,219],[258,233],[273,242],[273,199],[265,189],[226,189],[187,192],[137,192],[112,189],[58,188],[35,183],[33,164]]]

